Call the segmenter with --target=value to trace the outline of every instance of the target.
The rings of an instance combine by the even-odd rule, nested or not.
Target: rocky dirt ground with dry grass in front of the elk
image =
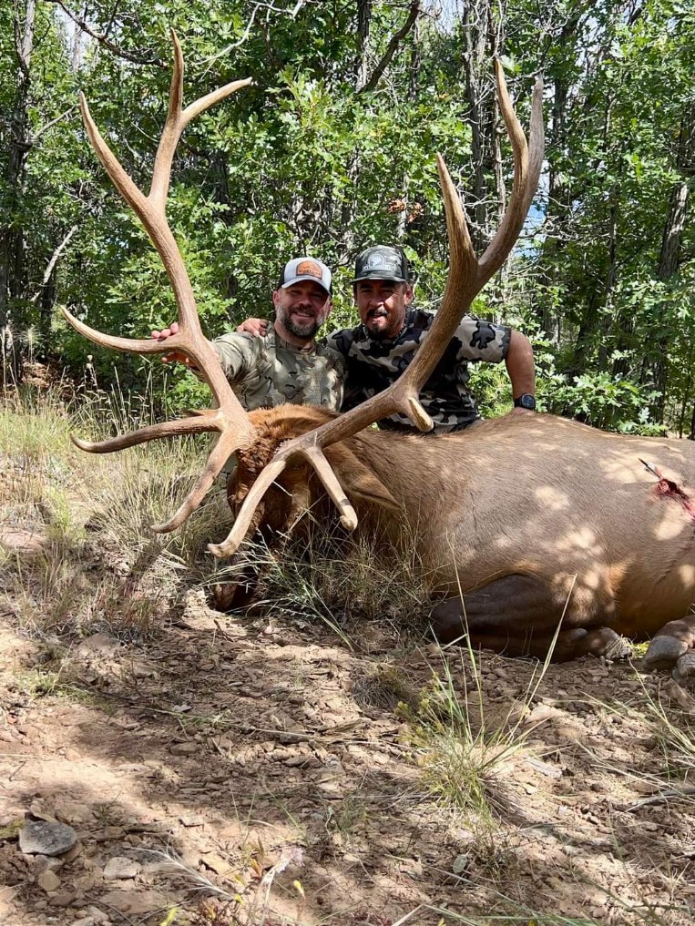
[[[416,577],[343,558],[313,611],[281,565],[284,604],[222,615],[218,508],[146,530],[180,445],[87,463],[70,429],[0,415],[0,924],[695,922],[692,692],[442,652]]]

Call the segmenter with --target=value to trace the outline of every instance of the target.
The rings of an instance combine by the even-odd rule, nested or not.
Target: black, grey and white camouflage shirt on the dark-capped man
[[[422,344],[436,316],[420,308],[409,308],[403,330],[393,339],[378,341],[359,325],[351,331],[335,332],[327,338],[347,363],[347,391],[343,411],[355,407],[385,390],[403,372]],[[474,397],[468,389],[468,364],[478,360],[499,363],[507,356],[511,330],[466,315],[451,338],[432,376],[425,382],[420,401],[435,422],[435,431],[461,431],[479,418]],[[403,415],[379,421],[388,430],[412,430]]]

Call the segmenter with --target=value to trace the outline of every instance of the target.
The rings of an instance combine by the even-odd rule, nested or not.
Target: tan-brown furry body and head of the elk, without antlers
[[[251,460],[238,455],[237,501],[277,447],[330,419],[293,406],[249,417],[259,437]],[[542,657],[561,618],[556,658],[660,634],[648,664],[661,666],[695,642],[695,444],[505,416],[441,436],[362,431],[325,456],[358,530],[378,523],[392,548],[414,540],[443,642],[469,632],[474,644]],[[325,500],[300,461],[276,477],[254,528],[288,529],[298,498],[312,510]]]

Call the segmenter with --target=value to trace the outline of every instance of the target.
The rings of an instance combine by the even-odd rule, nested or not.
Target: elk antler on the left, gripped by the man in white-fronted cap
[[[190,106],[183,109],[183,55],[179,40],[173,31],[171,31],[171,39],[174,48],[174,60],[169,94],[169,112],[159,140],[155,167],[152,173],[152,185],[147,196],[135,186],[100,135],[82,94],[80,94],[80,106],[84,126],[99,160],[107,169],[108,176],[123,199],[126,200],[129,206],[132,206],[136,215],[142,220],[152,244],[155,245],[159,257],[162,259],[164,269],[166,269],[171,282],[171,288],[176,296],[176,305],[179,310],[179,331],[171,335],[166,342],[158,342],[152,339],[131,340],[120,338],[95,331],[82,321],[74,318],[67,309],[63,308],[63,314],[72,327],[91,341],[94,341],[95,344],[112,347],[114,350],[133,351],[136,354],[157,354],[165,351],[167,353],[171,351],[181,352],[191,359],[196,368],[200,370],[212,390],[212,394],[215,396],[217,408],[200,409],[193,412],[192,417],[187,419],[153,424],[138,431],[121,434],[111,440],[101,441],[98,444],[82,441],[76,437],[72,438],[73,442],[82,450],[93,454],[107,454],[123,447],[131,447],[134,444],[144,444],[145,441],[152,441],[158,437],[171,437],[176,434],[197,434],[204,431],[219,432],[220,436],[208,456],[208,462],[202,475],[189,494],[186,495],[181,507],[165,523],[153,525],[153,530],[159,533],[173,531],[183,524],[183,521],[200,505],[209,487],[224,466],[225,460],[235,450],[250,444],[255,433],[255,429],[247,418],[246,411],[239,403],[232,391],[232,387],[224,376],[214,347],[208,342],[200,328],[193,287],[166,217],[167,194],[171,180],[171,162],[183,129],[191,119],[208,109],[208,106],[213,106],[230,94],[234,94],[234,91],[246,87],[251,82],[251,79],[247,78],[245,81],[227,83],[225,86],[220,87],[219,90],[201,97],[195,103],[191,103]]]

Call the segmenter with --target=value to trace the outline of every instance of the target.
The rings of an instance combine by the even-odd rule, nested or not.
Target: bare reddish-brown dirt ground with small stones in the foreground
[[[516,730],[482,820],[432,790],[396,706],[445,660],[476,701],[455,649],[373,627],[350,648],[200,592],[147,641],[0,619],[3,923],[695,921],[695,701],[665,676],[585,658],[534,692],[536,662],[481,654],[478,728]],[[77,844],[23,854],[27,815]]]

